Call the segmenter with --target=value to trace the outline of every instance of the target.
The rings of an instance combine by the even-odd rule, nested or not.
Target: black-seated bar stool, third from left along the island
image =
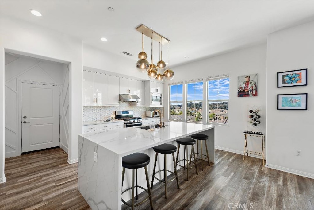
[[[189,169],[195,167],[196,170],[196,174],[198,174],[198,170],[197,170],[197,165],[196,165],[196,158],[195,158],[195,151],[194,151],[194,144],[196,144],[196,141],[194,139],[190,139],[190,138],[181,138],[176,140],[176,142],[179,144],[178,146],[178,152],[177,152],[177,158],[176,158],[176,165],[181,166],[183,169],[187,169],[187,180],[189,180]],[[184,159],[179,160],[178,161],[178,156],[179,156],[179,151],[180,151],[180,145],[184,145]],[[193,158],[194,158],[194,165],[189,167],[188,164],[188,154],[187,154],[187,146],[191,145],[191,156],[190,156],[190,163],[191,163],[191,159],[192,159],[192,152],[193,152]],[[185,155],[187,155],[187,158],[185,157]],[[179,162],[183,161],[183,166],[178,164]],[[187,161],[187,167],[185,167],[185,161]]]

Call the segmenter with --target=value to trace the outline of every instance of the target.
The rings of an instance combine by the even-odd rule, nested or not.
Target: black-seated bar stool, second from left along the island
[[[159,181],[165,183],[165,196],[167,198],[167,182],[171,182],[174,179],[176,179],[177,187],[178,187],[178,189],[180,189],[179,180],[178,180],[178,173],[176,171],[175,155],[174,155],[174,153],[176,152],[176,146],[174,146],[172,144],[161,144],[161,145],[153,147],[153,149],[156,152],[156,156],[155,156],[152,184],[150,185],[150,188],[153,189],[154,179],[159,180]],[[164,154],[164,169],[155,172],[158,153]],[[173,166],[175,168],[175,172],[167,170],[167,156],[166,156],[166,154],[171,154],[171,153],[172,153],[172,160],[173,160]],[[159,173],[160,171],[164,172],[164,180],[160,180],[157,177],[155,177],[155,175],[157,173]],[[174,174],[175,177],[173,179],[171,179],[171,180],[167,180],[167,171],[170,172],[171,174]]]

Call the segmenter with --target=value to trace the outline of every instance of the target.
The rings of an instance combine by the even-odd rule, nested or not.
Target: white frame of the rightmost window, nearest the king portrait
[[[213,124],[213,125],[222,125],[222,126],[229,126],[229,100],[230,100],[230,86],[229,86],[229,99],[218,99],[218,100],[209,100],[208,99],[208,81],[214,81],[214,80],[222,80],[222,79],[226,79],[226,78],[229,78],[229,82],[230,82],[230,76],[229,74],[227,75],[218,75],[218,76],[213,76],[213,77],[207,77],[206,78],[206,122],[207,124]],[[218,83],[218,90],[219,90],[219,83]],[[218,92],[219,94],[219,92]],[[218,106],[218,103],[219,102],[228,102],[228,124],[222,124],[222,123],[218,123],[218,120],[217,120],[217,123],[213,123],[213,122],[209,122],[209,102],[217,102],[217,106]]]

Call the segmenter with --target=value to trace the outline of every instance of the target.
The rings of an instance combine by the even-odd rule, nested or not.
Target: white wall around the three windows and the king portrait
[[[186,81],[208,76],[230,74],[230,100],[228,109],[228,126],[215,126],[215,147],[218,149],[243,154],[244,134],[247,130],[247,110],[253,105],[261,106],[261,122],[266,128],[266,44],[243,50],[226,53],[216,57],[197,62],[175,66],[171,68],[175,77],[170,82],[165,82],[165,90],[169,83]],[[257,97],[237,97],[237,77],[239,75],[258,74]],[[205,85],[205,84],[204,84]],[[165,91],[166,93],[166,91]],[[165,118],[169,116],[169,93],[165,100]],[[203,101],[203,106],[205,105]],[[204,116],[204,114],[203,114]],[[203,121],[204,117],[203,117]],[[203,122],[205,123],[205,122]],[[252,126],[251,126],[252,127]],[[262,130],[265,132],[265,129]],[[249,150],[262,151],[261,138],[250,138]]]

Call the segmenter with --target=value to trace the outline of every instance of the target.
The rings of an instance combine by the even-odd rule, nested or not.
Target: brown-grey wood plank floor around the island
[[[221,150],[215,156],[216,163],[205,162],[199,175],[192,169],[189,181],[186,171],[178,170],[181,189],[175,180],[170,182],[167,199],[164,185],[154,185],[154,209],[314,209],[314,180],[266,168],[257,158],[243,161],[243,156]],[[60,148],[7,158],[0,209],[90,209],[77,190],[77,164],[69,165],[67,158]],[[150,209],[149,202],[135,209]]]

